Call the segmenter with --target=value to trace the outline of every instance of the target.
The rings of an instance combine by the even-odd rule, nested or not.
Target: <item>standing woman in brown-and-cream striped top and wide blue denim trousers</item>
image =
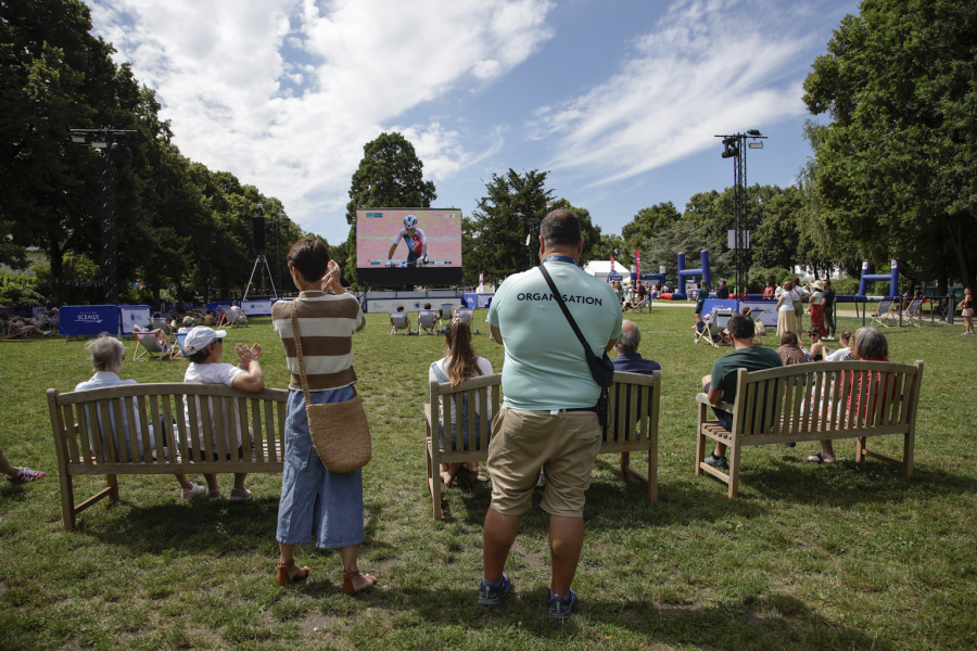
[[[359,302],[345,293],[339,265],[329,259],[329,251],[318,240],[296,242],[289,251],[288,261],[292,281],[300,291],[294,304],[301,320],[309,401],[316,405],[348,401],[356,395],[353,385],[357,382],[353,370],[353,334],[366,326]],[[363,470],[329,472],[316,452],[305,413],[292,329],[293,309],[293,303],[286,301],[271,308],[271,321],[284,346],[291,373],[284,471],[275,535],[281,553],[277,578],[284,585],[308,576],[308,567],[295,564],[293,550],[295,545],[306,545],[315,536],[316,547],[339,548],[343,560],[343,592],[354,595],[377,583],[375,577],[359,572],[356,564],[364,540]]]

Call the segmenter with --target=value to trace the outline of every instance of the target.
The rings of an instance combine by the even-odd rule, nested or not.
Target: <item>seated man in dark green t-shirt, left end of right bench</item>
[[[720,401],[732,404],[736,399],[736,371],[739,369],[760,371],[784,366],[774,350],[753,345],[753,321],[749,317],[736,315],[729,319],[726,328],[733,337],[733,352],[716,359],[712,366],[712,374],[702,378],[702,391],[712,405]],[[724,427],[733,429],[732,413],[715,408],[713,411]],[[715,450],[706,457],[706,463],[728,469],[725,444],[716,443]]]

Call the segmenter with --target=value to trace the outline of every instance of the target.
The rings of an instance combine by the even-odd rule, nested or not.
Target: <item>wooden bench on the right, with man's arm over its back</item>
[[[732,431],[715,420],[705,393],[696,396],[696,474],[706,471],[725,482],[733,498],[739,492],[740,451],[745,446],[855,438],[857,461],[866,455],[881,459],[900,467],[909,477],[913,473],[922,381],[922,361],[819,361],[753,372],[740,369],[735,403],[715,406],[733,414]],[[868,436],[887,434],[902,435],[901,460],[867,449]],[[707,438],[728,446],[728,474],[705,462]]]

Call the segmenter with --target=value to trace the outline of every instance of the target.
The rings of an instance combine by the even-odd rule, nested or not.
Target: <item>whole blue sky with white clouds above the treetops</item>
[[[182,153],[345,240],[363,145],[397,130],[475,209],[493,174],[549,170],[604,232],[733,182],[716,133],[757,128],[750,183],[810,155],[801,84],[851,0],[88,0]]]

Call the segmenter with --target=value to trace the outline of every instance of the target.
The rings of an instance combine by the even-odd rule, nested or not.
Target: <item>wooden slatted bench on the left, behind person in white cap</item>
[[[102,498],[116,501],[117,475],[120,474],[281,472],[288,395],[288,391],[280,388],[250,394],[221,384],[182,382],[130,384],[63,394],[49,388],[48,408],[58,452],[64,529],[72,531],[75,516]],[[183,396],[213,398],[200,399],[200,409],[196,408],[198,400],[188,400],[189,427],[183,416]],[[241,459],[237,458],[237,450],[227,449],[225,442],[225,436],[228,442],[237,442],[234,404],[242,426],[250,425],[253,436],[242,433]],[[211,436],[212,408],[218,430],[216,449]],[[100,426],[100,422],[104,426]],[[149,423],[155,425],[152,437]],[[163,427],[161,423],[173,423],[176,430]],[[198,458],[192,461],[187,458],[187,450],[203,450],[203,457],[208,460]],[[230,460],[228,452],[231,452]],[[211,461],[215,454],[217,460]],[[72,478],[76,475],[105,475],[109,486],[75,506]]]

